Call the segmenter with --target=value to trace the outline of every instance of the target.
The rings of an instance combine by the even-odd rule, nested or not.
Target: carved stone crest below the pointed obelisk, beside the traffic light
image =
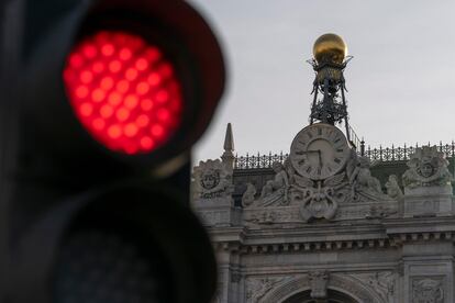
[[[219,159],[200,161],[193,169],[191,181],[195,199],[231,197],[234,190],[232,170]]]

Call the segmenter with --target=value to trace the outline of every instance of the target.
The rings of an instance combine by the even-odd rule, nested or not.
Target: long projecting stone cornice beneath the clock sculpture
[[[454,242],[455,217],[328,223],[292,229],[212,227],[209,232],[217,249],[238,254],[397,249],[409,243]]]

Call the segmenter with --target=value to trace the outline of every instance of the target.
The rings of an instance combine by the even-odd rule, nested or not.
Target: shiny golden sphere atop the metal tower
[[[342,64],[346,55],[347,46],[339,35],[324,34],[314,42],[313,56],[318,63]]]

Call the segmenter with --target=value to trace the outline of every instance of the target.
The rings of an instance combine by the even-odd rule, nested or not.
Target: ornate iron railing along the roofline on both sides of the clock
[[[421,146],[432,146],[430,143]],[[455,142],[451,144],[436,144],[437,149],[443,152],[447,158],[455,158]],[[402,147],[381,147],[379,148],[365,148],[364,143],[362,142],[360,148],[357,149],[357,153],[360,156],[368,157],[371,161],[402,161],[409,160],[410,155],[415,152],[415,148],[419,147],[418,144],[415,146],[407,146],[406,144]],[[235,156],[234,159],[234,169],[255,169],[255,168],[270,168],[271,164],[275,161],[285,162],[285,160],[289,157],[289,154],[271,154],[268,155],[260,155],[259,153],[256,155],[246,154],[246,156]]]

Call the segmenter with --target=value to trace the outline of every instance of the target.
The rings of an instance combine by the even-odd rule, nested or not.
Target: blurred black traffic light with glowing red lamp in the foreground
[[[224,88],[217,37],[184,1],[27,1],[12,302],[210,302],[190,148]]]

